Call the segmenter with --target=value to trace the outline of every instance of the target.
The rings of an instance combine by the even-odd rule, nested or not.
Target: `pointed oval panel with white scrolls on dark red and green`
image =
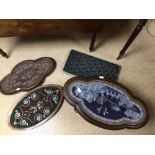
[[[62,100],[63,93],[60,86],[40,87],[17,103],[10,116],[10,125],[19,129],[38,126],[58,111]]]

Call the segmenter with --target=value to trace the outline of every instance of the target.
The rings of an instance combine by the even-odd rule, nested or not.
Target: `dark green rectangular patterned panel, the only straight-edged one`
[[[117,64],[71,50],[63,70],[78,77],[103,76],[111,80],[117,80],[121,67]]]

